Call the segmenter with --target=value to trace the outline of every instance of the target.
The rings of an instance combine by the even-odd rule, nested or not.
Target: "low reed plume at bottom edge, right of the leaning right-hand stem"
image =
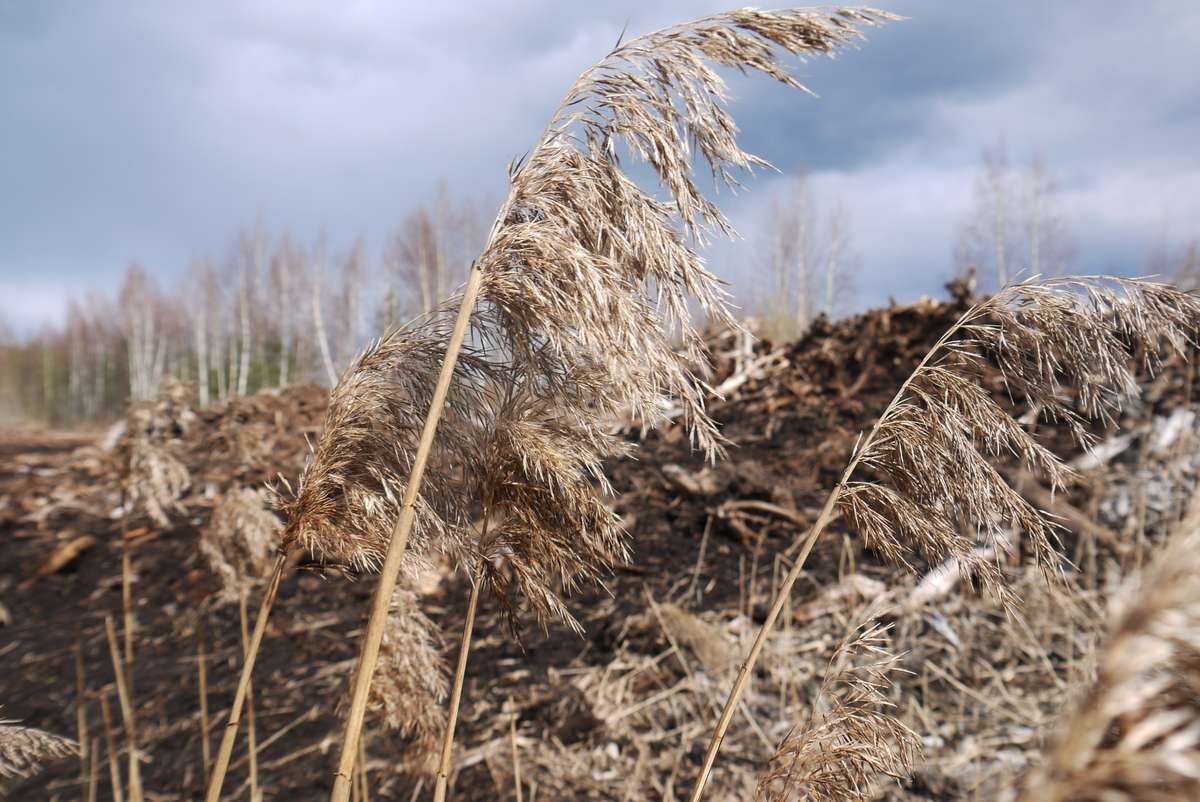
[[[808,720],[772,755],[756,802],[866,802],[882,779],[908,777],[920,741],[889,712],[899,657],[887,635],[868,620],[834,650]]]

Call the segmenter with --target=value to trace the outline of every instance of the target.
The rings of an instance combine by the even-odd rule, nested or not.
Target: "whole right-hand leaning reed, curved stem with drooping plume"
[[[1062,487],[1072,471],[1039,444],[979,384],[998,369],[1010,397],[1064,424],[1087,445],[1088,420],[1111,425],[1138,394],[1134,359],[1152,372],[1164,346],[1182,352],[1200,325],[1200,298],[1140,280],[1073,277],[1006,287],[967,310],[925,354],[841,479],[778,592],[714,729],[691,802],[704,791],[737,702],[817,538],[839,510],[864,541],[912,568],[913,553],[955,561],[1006,606],[1015,598],[1000,563],[1013,553],[1010,526],[1050,575],[1060,571],[1056,525],[1014,491],[989,457],[1018,457],[1025,469]],[[1068,399],[1074,397],[1074,406]],[[851,481],[859,466],[883,481]],[[886,483],[886,484],[884,484]],[[890,486],[888,486],[890,485]],[[985,549],[962,532],[977,532]],[[988,555],[991,555],[989,558]]]

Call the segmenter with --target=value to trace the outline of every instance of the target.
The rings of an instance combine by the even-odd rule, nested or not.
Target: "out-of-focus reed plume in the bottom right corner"
[[[1200,798],[1200,508],[1114,599],[1097,675],[1022,802]]]

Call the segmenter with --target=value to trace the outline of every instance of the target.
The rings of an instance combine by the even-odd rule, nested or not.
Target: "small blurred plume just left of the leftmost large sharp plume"
[[[221,583],[221,598],[236,602],[241,592],[266,575],[281,529],[266,489],[235,487],[212,510],[200,532],[200,556]]]

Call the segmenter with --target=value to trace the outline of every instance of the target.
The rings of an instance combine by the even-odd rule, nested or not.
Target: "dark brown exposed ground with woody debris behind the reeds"
[[[706,466],[672,427],[646,436],[636,461],[611,467],[634,557],[606,591],[575,599],[586,636],[530,623],[518,641],[494,604],[484,603],[452,798],[514,798],[514,718],[526,800],[685,798],[715,708],[790,564],[790,546],[858,433],[961,310],[932,301],[876,310],[818,323],[779,347],[714,337],[714,383],[726,382],[727,393],[713,408],[736,445],[724,462]],[[1106,459],[1081,457],[1085,478],[1068,498],[1048,498],[1014,474],[1031,499],[1063,516],[1063,547],[1078,567],[1074,592],[1066,594],[1009,565],[1026,599],[1019,618],[1006,618],[970,588],[940,582],[929,574],[934,567],[908,575],[883,564],[835,523],[734,719],[709,798],[751,797],[772,747],[811,708],[838,640],[871,604],[886,605],[892,647],[906,652],[911,674],[896,677],[896,711],[925,747],[914,778],[881,795],[1006,798],[1088,670],[1106,594],[1141,563],[1192,491],[1192,367],[1175,363],[1148,383],[1145,402],[1122,421],[1127,437],[1102,432]],[[320,388],[298,387],[197,411],[178,432],[178,455],[191,472],[182,509],[168,526],[126,525],[137,618],[133,696],[150,800],[202,795],[199,634],[214,747],[239,668],[236,605],[218,605],[197,555],[198,534],[229,489],[296,475],[324,397]],[[1079,456],[1066,438],[1044,433],[1060,453]],[[101,695],[120,726],[104,617],[120,628],[122,550],[118,469],[102,439],[0,435],[0,716],[74,736],[72,650],[80,642],[88,734],[101,744]],[[371,577],[352,580],[302,559],[283,579],[254,675],[268,800],[326,798],[338,705],[373,586]],[[443,570],[422,589],[452,663],[464,581]],[[229,798],[247,792],[245,743],[242,736]],[[428,796],[413,752],[368,720],[372,798]],[[100,800],[113,798],[106,760],[102,750]],[[16,786],[12,798],[80,798],[79,777],[79,761],[61,760]]]

